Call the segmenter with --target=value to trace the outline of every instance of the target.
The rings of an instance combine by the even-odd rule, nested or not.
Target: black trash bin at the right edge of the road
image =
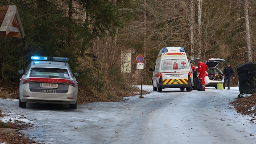
[[[256,64],[247,63],[237,67],[238,72],[238,98],[243,94],[253,94],[256,92]]]

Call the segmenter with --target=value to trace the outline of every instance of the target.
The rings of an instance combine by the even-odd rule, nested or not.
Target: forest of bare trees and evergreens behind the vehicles
[[[189,59],[218,57],[234,67],[255,62],[255,0],[1,0],[16,5],[25,37],[0,38],[0,92],[18,97],[32,55],[69,57],[78,103],[116,101],[152,84],[150,67],[163,47],[182,46]],[[121,71],[132,55],[131,72]],[[144,69],[135,60],[143,55]],[[232,85],[237,86],[236,79]],[[1,93],[2,93],[1,92]],[[3,95],[3,94],[1,94]],[[80,99],[79,99],[80,98]],[[80,101],[79,101],[80,100]]]

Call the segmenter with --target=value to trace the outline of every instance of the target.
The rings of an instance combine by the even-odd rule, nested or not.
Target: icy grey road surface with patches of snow
[[[140,86],[139,86],[140,88]],[[46,144],[253,144],[256,124],[238,114],[230,102],[239,94],[230,90],[206,91],[163,89],[132,97],[124,102],[95,102],[68,106],[27,104],[0,99],[12,118],[31,123],[20,130],[25,136]]]

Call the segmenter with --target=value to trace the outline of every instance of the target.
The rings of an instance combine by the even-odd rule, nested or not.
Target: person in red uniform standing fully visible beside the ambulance
[[[198,72],[197,72],[197,77],[200,78],[204,91],[205,91],[205,81],[204,81],[204,77],[206,76],[206,72],[208,70],[208,66],[206,66],[206,64],[202,61],[202,59],[198,59],[197,60],[198,63]]]

